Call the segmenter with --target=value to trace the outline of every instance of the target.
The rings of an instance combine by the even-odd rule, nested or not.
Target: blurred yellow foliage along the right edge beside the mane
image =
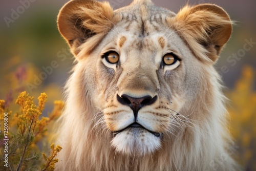
[[[244,67],[234,90],[228,93],[231,105],[231,130],[237,144],[239,161],[245,170],[256,170],[256,92],[253,91],[253,69]]]

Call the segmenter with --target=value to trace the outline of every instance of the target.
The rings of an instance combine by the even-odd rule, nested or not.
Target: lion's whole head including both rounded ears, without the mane
[[[94,128],[125,154],[151,154],[190,126],[191,114],[207,117],[218,79],[213,64],[231,34],[228,15],[215,5],[175,15],[147,3],[113,11],[71,1],[58,19]]]

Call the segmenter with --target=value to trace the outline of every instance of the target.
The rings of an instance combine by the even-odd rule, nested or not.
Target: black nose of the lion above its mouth
[[[124,105],[130,106],[130,108],[133,110],[135,118],[137,118],[138,111],[145,105],[151,105],[157,100],[157,96],[151,97],[151,96],[144,96],[140,98],[135,98],[128,96],[126,94],[117,95],[117,100]]]

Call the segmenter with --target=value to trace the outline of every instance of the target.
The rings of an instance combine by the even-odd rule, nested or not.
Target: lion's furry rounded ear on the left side
[[[88,45],[85,52],[88,54],[112,27],[113,15],[109,3],[73,0],[60,10],[58,29],[75,56],[81,51],[80,45],[84,43]]]

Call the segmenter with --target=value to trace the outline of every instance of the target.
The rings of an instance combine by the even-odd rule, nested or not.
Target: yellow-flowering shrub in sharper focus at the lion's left
[[[41,155],[39,145],[44,142],[44,137],[47,133],[47,125],[59,117],[61,110],[63,109],[63,102],[55,102],[53,112],[49,117],[41,117],[45,103],[47,101],[47,95],[41,93],[38,97],[38,104],[33,102],[33,97],[29,96],[26,92],[19,94],[16,104],[20,106],[20,110],[13,115],[8,110],[4,100],[0,100],[0,112],[1,112],[1,143],[0,147],[5,146],[4,139],[8,140],[8,167],[3,164],[0,165],[1,170],[38,170],[39,165],[42,164],[42,160],[38,160],[42,157],[46,160],[46,163],[42,165],[41,170],[54,170],[54,164],[58,161],[54,159],[57,153],[60,152],[61,147],[54,144],[51,145],[51,155],[47,158],[43,153]],[[9,130],[7,135],[3,134],[4,128],[4,113],[8,113]],[[5,136],[5,137],[4,137]],[[4,150],[1,150],[1,163],[4,159]]]

